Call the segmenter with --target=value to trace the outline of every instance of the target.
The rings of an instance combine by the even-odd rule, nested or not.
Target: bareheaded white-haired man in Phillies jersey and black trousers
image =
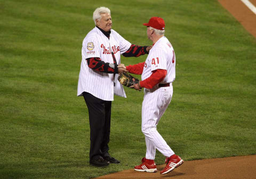
[[[119,163],[109,155],[111,101],[114,94],[126,97],[117,73],[127,72],[121,64],[121,54],[138,57],[148,54],[150,46],[133,45],[115,30],[107,7],[93,12],[95,28],[83,40],[82,62],[78,79],[77,96],[83,96],[89,110],[90,164],[107,166]]]

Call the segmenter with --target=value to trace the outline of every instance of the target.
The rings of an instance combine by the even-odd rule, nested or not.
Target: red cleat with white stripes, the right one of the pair
[[[173,154],[171,157],[166,157],[166,159],[165,159],[166,166],[160,173],[166,174],[168,172],[171,172],[174,168],[177,168],[181,164],[183,164],[183,162],[184,161],[179,156],[177,156],[175,154]]]

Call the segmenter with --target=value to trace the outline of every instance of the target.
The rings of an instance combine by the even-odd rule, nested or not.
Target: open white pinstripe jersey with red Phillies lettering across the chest
[[[77,96],[82,96],[85,91],[107,101],[114,100],[114,94],[126,98],[123,86],[117,80],[118,75],[115,75],[116,85],[114,87],[114,74],[90,69],[86,58],[99,57],[106,63],[114,63],[111,55],[111,50],[113,50],[117,64],[120,64],[121,54],[126,52],[130,46],[131,43],[113,29],[108,39],[97,27],[93,28],[83,40]]]

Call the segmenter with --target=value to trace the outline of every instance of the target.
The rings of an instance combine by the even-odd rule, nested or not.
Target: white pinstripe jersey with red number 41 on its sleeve
[[[147,79],[156,69],[167,70],[164,80],[160,83],[171,83],[175,80],[175,53],[166,37],[161,37],[150,49],[143,67],[141,80]]]

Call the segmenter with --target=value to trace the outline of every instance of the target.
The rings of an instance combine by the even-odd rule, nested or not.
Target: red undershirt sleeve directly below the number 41
[[[167,74],[166,70],[162,70],[162,69],[154,70],[153,73],[149,76],[149,78],[143,81],[140,81],[141,88],[152,89],[154,86],[156,86],[156,84],[164,80],[166,74]]]

